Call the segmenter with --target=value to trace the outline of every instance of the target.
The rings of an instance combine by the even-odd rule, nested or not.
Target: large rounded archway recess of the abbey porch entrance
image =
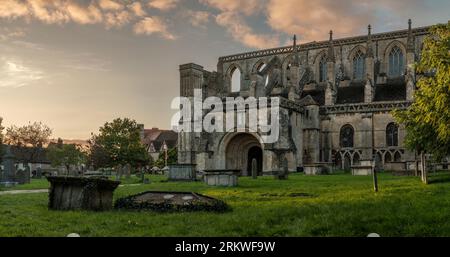
[[[226,145],[226,169],[241,171],[243,176],[251,176],[253,158],[258,164],[258,175],[263,170],[263,152],[258,139],[249,133],[238,133]]]

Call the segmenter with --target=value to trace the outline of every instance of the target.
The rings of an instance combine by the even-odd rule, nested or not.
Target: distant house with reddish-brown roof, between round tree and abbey
[[[152,159],[157,160],[165,148],[172,149],[177,146],[178,134],[172,130],[158,128],[142,129],[141,140]]]

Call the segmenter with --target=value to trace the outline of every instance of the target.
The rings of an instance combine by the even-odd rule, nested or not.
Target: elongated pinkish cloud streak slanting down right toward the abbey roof
[[[223,12],[216,17],[216,22],[227,29],[234,40],[253,48],[271,48],[279,45],[277,36],[256,34],[241,16],[233,12]]]

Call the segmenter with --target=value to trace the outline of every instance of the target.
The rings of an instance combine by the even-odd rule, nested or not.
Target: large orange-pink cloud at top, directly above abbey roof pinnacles
[[[408,15],[425,8],[421,0],[270,0],[266,15],[272,29],[297,34],[302,42],[308,42],[327,39],[330,29],[340,38],[365,33],[370,23],[395,28],[399,20],[406,24]],[[386,17],[381,14],[392,18],[382,20]]]

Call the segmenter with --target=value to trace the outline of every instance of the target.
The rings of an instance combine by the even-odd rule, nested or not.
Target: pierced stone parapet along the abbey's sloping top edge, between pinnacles
[[[431,26],[414,28],[414,29],[412,29],[412,33],[414,36],[426,35],[426,34],[429,34],[430,28],[431,28]],[[402,38],[402,37],[407,37],[407,36],[408,36],[408,29],[395,30],[395,31],[391,31],[391,32],[382,32],[382,33],[372,34],[372,41],[389,40],[389,39],[396,39],[396,38]],[[367,42],[367,35],[334,39],[334,40],[332,40],[332,42],[333,42],[334,46],[365,43],[365,42]],[[313,49],[328,47],[329,43],[330,43],[329,40],[324,40],[324,41],[319,41],[319,42],[313,41],[313,42],[309,42],[309,43],[299,44],[297,47],[298,47],[299,51],[300,50],[313,50]],[[222,56],[222,57],[219,57],[219,62],[222,62],[222,63],[232,62],[232,61],[245,60],[245,59],[256,58],[256,57],[263,57],[263,56],[268,56],[268,55],[291,53],[292,51],[293,51],[293,46],[270,48],[270,49]]]

